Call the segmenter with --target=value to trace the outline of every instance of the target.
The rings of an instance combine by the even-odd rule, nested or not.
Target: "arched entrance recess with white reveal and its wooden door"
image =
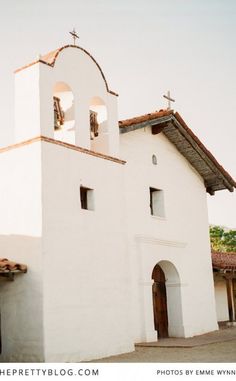
[[[154,327],[158,338],[183,337],[181,283],[173,263],[160,261],[152,271]]]

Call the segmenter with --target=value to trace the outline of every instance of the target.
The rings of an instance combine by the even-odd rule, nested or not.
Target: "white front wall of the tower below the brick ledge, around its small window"
[[[124,165],[43,143],[46,361],[134,349],[124,216]],[[94,210],[80,206],[80,185]]]

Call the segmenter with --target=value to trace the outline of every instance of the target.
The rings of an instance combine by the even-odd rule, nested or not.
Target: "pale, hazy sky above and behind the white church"
[[[78,45],[119,94],[119,119],[173,108],[236,178],[235,0],[0,0],[0,145],[13,142],[13,71]],[[209,221],[236,228],[236,192],[208,196]]]

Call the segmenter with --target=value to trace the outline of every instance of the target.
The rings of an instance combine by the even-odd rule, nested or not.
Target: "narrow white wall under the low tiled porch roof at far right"
[[[217,320],[227,321],[229,320],[229,309],[227,300],[226,281],[222,277],[215,276],[214,285]]]

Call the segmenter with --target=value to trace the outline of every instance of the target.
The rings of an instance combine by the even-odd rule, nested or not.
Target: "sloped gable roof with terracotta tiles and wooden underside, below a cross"
[[[218,163],[178,112],[160,110],[119,122],[121,134],[145,126],[151,126],[153,134],[163,132],[203,178],[208,193],[214,194],[222,189],[234,191],[235,180]]]

